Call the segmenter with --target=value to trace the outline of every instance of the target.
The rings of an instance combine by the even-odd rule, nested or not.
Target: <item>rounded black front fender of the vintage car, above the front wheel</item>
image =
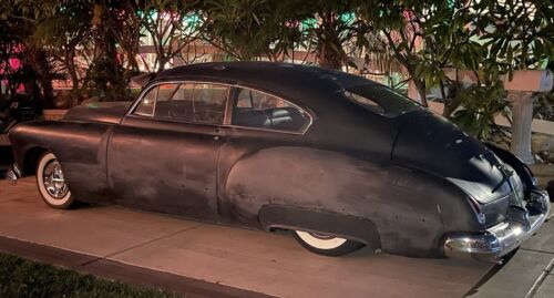
[[[89,199],[107,191],[106,154],[113,125],[66,121],[35,121],[17,125],[9,134],[20,168],[33,169],[29,153],[50,151],[60,161],[75,196]],[[38,161],[38,158],[37,158]]]

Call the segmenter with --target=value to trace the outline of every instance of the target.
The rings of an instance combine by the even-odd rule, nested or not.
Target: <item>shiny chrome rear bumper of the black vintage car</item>
[[[532,191],[526,209],[511,209],[504,222],[482,234],[449,235],[444,240],[444,255],[449,258],[502,263],[503,256],[516,249],[544,224],[551,209],[548,194]]]

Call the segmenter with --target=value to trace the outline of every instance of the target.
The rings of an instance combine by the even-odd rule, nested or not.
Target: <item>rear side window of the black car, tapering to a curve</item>
[[[242,88],[236,94],[233,125],[304,132],[310,123],[305,111],[277,96]]]

